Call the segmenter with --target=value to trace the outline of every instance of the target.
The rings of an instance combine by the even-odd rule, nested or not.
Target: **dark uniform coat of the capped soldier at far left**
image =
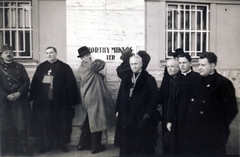
[[[11,75],[14,79],[19,81],[19,86],[13,86],[18,84],[14,79],[9,76],[6,76],[4,72],[0,69],[0,118],[1,118],[1,130],[13,129],[16,126],[13,117],[14,112],[11,110],[11,101],[7,100],[7,95],[20,92],[21,96],[17,100],[21,104],[19,108],[22,112],[22,116],[16,117],[19,123],[25,123],[25,128],[27,128],[30,114],[30,104],[28,100],[28,91],[30,79],[28,77],[27,71],[24,66],[17,62],[12,62],[11,64],[5,64],[4,62],[0,63],[0,66]],[[16,87],[16,88],[15,88]]]

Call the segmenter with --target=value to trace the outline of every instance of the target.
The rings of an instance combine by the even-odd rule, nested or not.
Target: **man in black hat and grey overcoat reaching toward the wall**
[[[77,150],[91,150],[95,154],[105,150],[101,144],[102,131],[116,123],[115,103],[100,73],[105,62],[100,59],[92,61],[86,46],[79,48],[78,53],[82,59],[78,68],[82,100],[79,121],[82,133]]]

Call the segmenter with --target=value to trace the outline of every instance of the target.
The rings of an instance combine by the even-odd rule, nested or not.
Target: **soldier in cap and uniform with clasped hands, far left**
[[[29,155],[27,128],[30,113],[30,79],[20,63],[13,61],[13,48],[3,45],[0,63],[1,154]],[[17,143],[19,141],[19,143]]]

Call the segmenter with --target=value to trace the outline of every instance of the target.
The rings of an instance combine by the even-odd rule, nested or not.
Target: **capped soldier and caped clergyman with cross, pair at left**
[[[70,142],[74,117],[71,106],[80,101],[70,66],[57,59],[56,48],[47,47],[47,61],[37,67],[30,85],[24,66],[13,60],[13,47],[3,45],[1,57],[1,155],[30,156],[29,134],[42,146],[39,153],[51,150],[54,145],[68,152],[65,144]]]

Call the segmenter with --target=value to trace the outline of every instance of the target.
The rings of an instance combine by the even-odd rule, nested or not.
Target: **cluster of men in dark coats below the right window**
[[[204,52],[198,70],[183,49],[167,61],[159,89],[163,154],[224,156],[229,125],[237,115],[235,89],[215,69],[217,56]]]

